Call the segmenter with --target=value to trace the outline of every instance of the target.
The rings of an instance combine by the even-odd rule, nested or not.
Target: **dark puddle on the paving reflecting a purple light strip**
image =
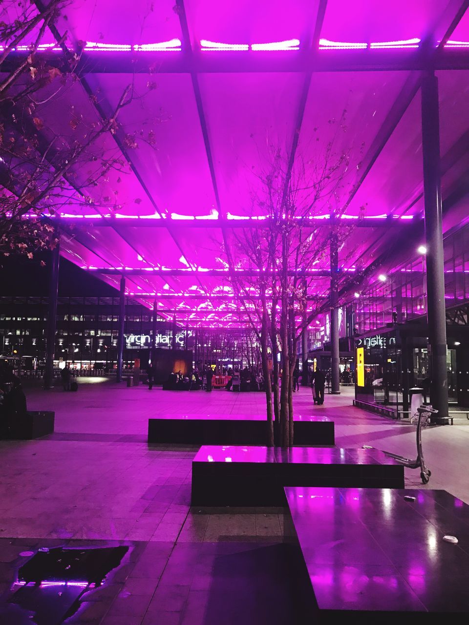
[[[39,549],[19,568],[2,625],[60,625],[80,607],[86,592],[103,584],[129,547]]]

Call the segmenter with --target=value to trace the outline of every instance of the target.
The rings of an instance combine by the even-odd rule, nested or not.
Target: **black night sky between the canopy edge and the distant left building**
[[[41,267],[40,261],[46,262]],[[1,259],[0,296],[46,296],[48,294],[50,254],[38,254],[33,260],[25,256]],[[116,297],[118,291],[98,278],[90,276],[72,262],[60,259],[59,296]]]

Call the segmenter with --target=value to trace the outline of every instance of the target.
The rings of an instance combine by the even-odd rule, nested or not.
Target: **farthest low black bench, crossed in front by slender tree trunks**
[[[181,417],[159,416],[148,419],[148,442],[186,445],[265,445],[265,417],[233,415]],[[295,419],[296,445],[334,445],[334,422],[326,417]]]

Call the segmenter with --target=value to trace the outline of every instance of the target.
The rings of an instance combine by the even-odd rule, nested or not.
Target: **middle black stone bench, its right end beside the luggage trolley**
[[[193,506],[285,506],[285,486],[403,488],[404,467],[376,449],[203,446]]]

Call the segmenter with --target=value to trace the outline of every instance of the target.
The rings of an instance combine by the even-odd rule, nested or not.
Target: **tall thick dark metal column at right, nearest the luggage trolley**
[[[421,83],[423,201],[425,206],[426,292],[430,401],[438,410],[436,422],[448,423],[446,371],[445,273],[441,224],[440,114],[438,79],[426,74]]]

